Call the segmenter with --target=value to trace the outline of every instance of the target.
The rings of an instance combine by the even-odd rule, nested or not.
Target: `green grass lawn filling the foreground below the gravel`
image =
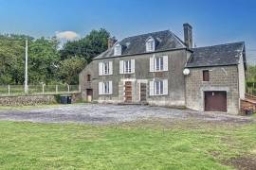
[[[0,169],[232,169],[256,157],[256,125],[0,122]]]

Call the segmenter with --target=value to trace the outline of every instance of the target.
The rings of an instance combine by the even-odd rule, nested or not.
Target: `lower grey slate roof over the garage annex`
[[[245,42],[233,42],[214,46],[193,48],[186,67],[234,65],[239,63]],[[245,56],[244,56],[245,58]],[[246,59],[244,59],[246,61]]]

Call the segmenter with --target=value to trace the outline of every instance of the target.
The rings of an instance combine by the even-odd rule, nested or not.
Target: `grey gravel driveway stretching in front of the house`
[[[117,106],[81,104],[58,107],[53,106],[48,109],[0,110],[0,120],[43,123],[76,122],[86,124],[116,124],[150,118],[164,118],[172,120],[186,120],[194,118],[200,121],[212,122],[251,121],[251,118],[248,117],[233,116],[224,113],[206,113],[203,111],[175,110],[136,105]]]

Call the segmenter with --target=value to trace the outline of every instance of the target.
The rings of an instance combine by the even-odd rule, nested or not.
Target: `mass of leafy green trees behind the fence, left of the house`
[[[105,29],[92,30],[81,40],[66,42],[64,48],[58,50],[56,38],[0,35],[0,85],[24,84],[26,40],[29,84],[77,84],[78,75],[86,63],[107,49],[109,36]]]

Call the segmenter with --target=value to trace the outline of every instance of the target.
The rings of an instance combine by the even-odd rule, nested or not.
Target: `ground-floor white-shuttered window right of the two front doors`
[[[150,81],[150,95],[167,95],[168,79]]]

